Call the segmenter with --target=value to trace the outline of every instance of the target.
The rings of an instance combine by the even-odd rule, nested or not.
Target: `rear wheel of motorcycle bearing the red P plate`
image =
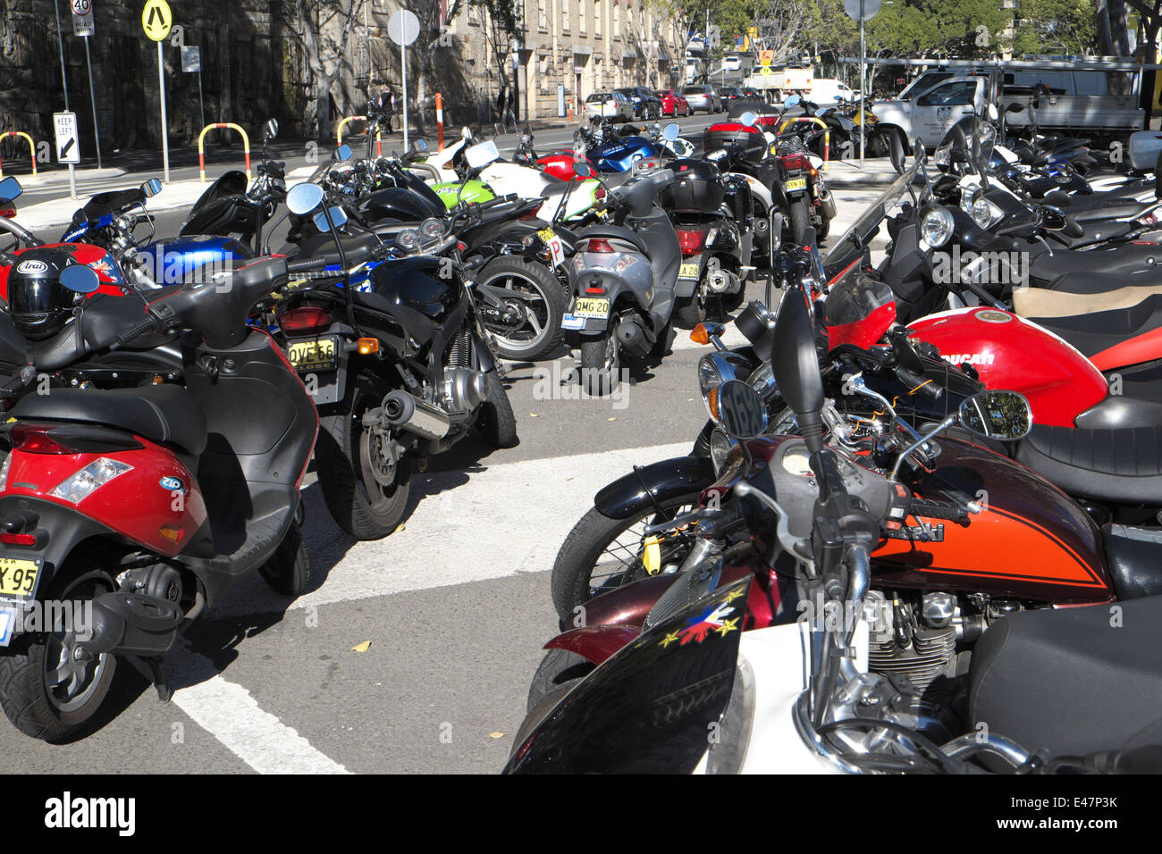
[[[514,335],[512,330],[485,322],[485,328],[492,332],[495,340],[496,352],[505,359],[537,361],[547,358],[561,346],[565,336],[561,320],[568,309],[568,294],[548,267],[523,258],[501,256],[480,270],[476,290],[488,286],[514,293],[531,293],[539,300],[539,306],[533,301],[521,300],[522,306],[533,313],[536,324],[540,326],[539,331],[533,330],[536,333],[528,340],[510,337]],[[523,332],[529,325],[532,324],[526,314],[524,324],[516,332]]]

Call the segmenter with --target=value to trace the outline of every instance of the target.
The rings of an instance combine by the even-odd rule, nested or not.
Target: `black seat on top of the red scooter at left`
[[[206,448],[206,415],[181,386],[108,390],[63,388],[30,394],[9,412],[19,421],[64,421],[128,430],[151,442],[177,445],[195,457]]]

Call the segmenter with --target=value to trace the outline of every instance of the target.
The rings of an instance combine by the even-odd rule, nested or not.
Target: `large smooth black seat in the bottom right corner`
[[[968,724],[1030,751],[1162,744],[1162,597],[1013,613],[976,643]]]

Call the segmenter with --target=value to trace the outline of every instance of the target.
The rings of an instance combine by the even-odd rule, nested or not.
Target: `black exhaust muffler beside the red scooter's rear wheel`
[[[173,645],[182,616],[168,600],[115,590],[93,601],[92,636],[77,646],[93,655],[153,658]]]

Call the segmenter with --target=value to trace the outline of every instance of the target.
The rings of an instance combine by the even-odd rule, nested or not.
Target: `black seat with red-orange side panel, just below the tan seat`
[[[1128,308],[1028,320],[1063,338],[1098,371],[1162,358],[1162,295],[1159,294],[1150,294]]]

